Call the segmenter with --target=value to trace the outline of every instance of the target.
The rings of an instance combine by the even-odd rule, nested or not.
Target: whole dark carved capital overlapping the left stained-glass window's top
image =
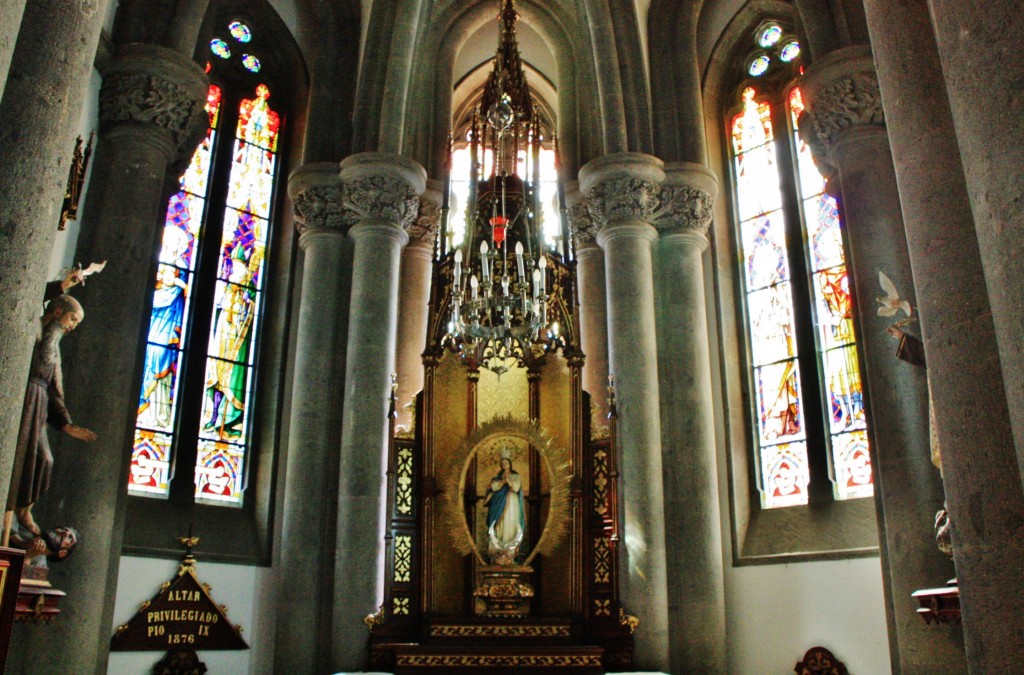
[[[145,125],[167,137],[177,159],[190,157],[209,126],[209,86],[203,69],[173,49],[122,45],[103,71],[100,133],[121,124]]]

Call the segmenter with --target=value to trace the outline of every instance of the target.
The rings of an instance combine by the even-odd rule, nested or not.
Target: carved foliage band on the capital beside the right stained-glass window
[[[861,124],[885,124],[879,80],[871,73],[855,73],[822,87],[808,107],[818,138],[830,146],[844,130]]]

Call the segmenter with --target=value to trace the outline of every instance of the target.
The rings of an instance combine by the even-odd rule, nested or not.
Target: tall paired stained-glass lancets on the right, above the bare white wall
[[[729,119],[750,354],[755,464],[765,508],[872,494],[839,206],[799,135],[799,86],[752,82]],[[815,461],[817,458],[821,461]]]

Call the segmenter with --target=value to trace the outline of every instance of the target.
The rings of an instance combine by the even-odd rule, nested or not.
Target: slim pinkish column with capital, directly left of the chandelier
[[[420,210],[409,228],[409,246],[401,252],[401,285],[398,294],[398,419],[396,429],[406,433],[416,426],[412,404],[423,388],[423,350],[427,344],[427,308],[430,303],[431,262],[441,215],[441,185],[430,187],[420,197]]]

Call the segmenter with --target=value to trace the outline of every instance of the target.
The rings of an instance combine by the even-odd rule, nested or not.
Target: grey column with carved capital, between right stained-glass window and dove
[[[897,319],[880,317],[874,300],[884,295],[879,272],[885,272],[911,305],[918,302],[867,47],[844,48],[817,59],[804,76],[804,91],[813,120],[813,126],[810,121],[803,125],[805,137],[813,129],[812,145],[827,155],[842,192],[890,655],[893,671],[900,672],[904,665],[923,659],[922,650],[936,641],[934,628],[915,615],[910,593],[941,586],[951,569],[933,541],[934,515],[942,506],[943,492],[930,462],[925,372],[895,356],[896,341],[886,328]]]

